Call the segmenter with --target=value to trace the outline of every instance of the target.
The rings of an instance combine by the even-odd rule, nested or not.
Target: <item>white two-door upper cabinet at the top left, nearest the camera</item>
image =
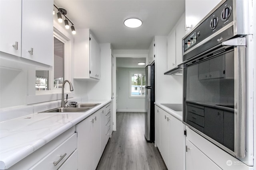
[[[52,10],[53,0],[1,0],[0,51],[52,66]]]

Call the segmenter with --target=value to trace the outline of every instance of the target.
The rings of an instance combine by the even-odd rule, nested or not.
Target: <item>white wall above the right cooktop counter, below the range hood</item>
[[[167,36],[156,36],[155,85],[156,102],[182,103],[182,76],[164,75],[167,71]]]

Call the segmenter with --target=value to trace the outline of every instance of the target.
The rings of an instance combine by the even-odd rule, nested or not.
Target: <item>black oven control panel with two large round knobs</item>
[[[221,4],[212,14],[208,16],[204,21],[201,21],[201,24],[196,27],[186,37],[183,39],[183,53],[192,49],[192,47],[200,43],[201,41],[207,41],[206,39],[213,34],[219,34],[222,32],[222,28],[226,27],[229,23],[233,23],[233,1],[226,0]],[[230,27],[232,24],[230,25]],[[228,26],[227,26],[228,27]],[[226,29],[225,29],[226,30]],[[232,35],[233,37],[234,35]],[[223,36],[220,36],[216,39],[217,43],[222,43],[224,39]],[[211,40],[213,41],[213,40]],[[200,46],[201,48],[202,46]],[[183,60],[184,61],[184,60]]]

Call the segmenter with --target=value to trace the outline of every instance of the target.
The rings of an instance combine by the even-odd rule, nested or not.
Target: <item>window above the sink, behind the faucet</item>
[[[62,88],[62,82],[64,81],[64,45],[65,43],[54,35],[53,71],[36,70],[36,91]],[[53,79],[50,79],[51,77]]]

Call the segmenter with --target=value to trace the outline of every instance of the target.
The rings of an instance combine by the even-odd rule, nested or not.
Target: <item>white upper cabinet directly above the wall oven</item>
[[[186,0],[186,34],[191,31],[221,0]]]

